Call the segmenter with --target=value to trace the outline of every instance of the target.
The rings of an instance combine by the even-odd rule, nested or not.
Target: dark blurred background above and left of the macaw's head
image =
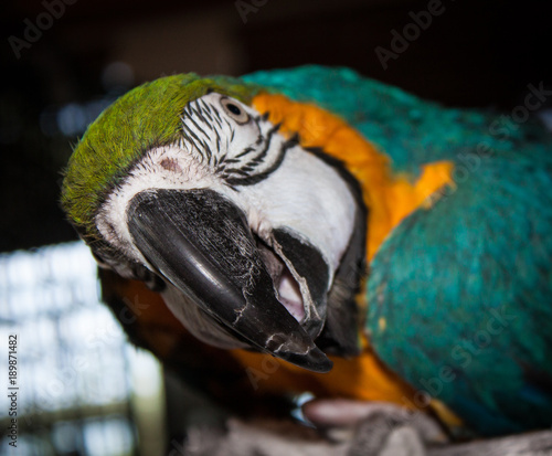
[[[545,1],[443,0],[384,70],[375,49],[391,51],[392,30],[436,1],[4,2],[0,252],[75,238],[59,209],[60,170],[102,108],[147,79],[347,65],[446,105],[503,109],[529,83],[552,81]]]

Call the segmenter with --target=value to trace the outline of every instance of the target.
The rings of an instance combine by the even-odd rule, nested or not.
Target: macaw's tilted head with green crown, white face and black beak
[[[326,372],[325,351],[358,349],[365,209],[340,162],[254,108],[259,91],[135,88],[75,147],[62,204],[100,266],[158,289],[200,340]]]

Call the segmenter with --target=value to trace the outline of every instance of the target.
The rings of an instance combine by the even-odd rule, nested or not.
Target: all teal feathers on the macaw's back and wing
[[[348,68],[245,79],[340,115],[395,170],[455,163],[455,188],[405,219],[372,262],[367,328],[389,365],[481,434],[550,426],[551,135],[538,121],[444,108]]]

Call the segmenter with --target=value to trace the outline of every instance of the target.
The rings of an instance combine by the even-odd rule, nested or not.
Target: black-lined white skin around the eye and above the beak
[[[235,113],[238,114],[235,114]],[[149,189],[212,189],[229,195],[231,185],[261,173],[277,159],[285,139],[259,114],[236,99],[210,93],[189,103],[181,116],[179,144],[149,150],[102,205],[96,225],[128,257],[147,264],[134,246],[126,209]]]

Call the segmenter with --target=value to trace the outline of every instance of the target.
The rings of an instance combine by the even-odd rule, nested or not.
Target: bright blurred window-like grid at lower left
[[[135,454],[131,402],[146,393],[162,400],[161,371],[149,353],[129,354],[136,349],[99,301],[88,247],[76,242],[0,254],[0,303],[3,359],[8,335],[18,336],[18,450]],[[8,411],[0,407],[3,428]],[[0,447],[8,447],[6,435]]]

